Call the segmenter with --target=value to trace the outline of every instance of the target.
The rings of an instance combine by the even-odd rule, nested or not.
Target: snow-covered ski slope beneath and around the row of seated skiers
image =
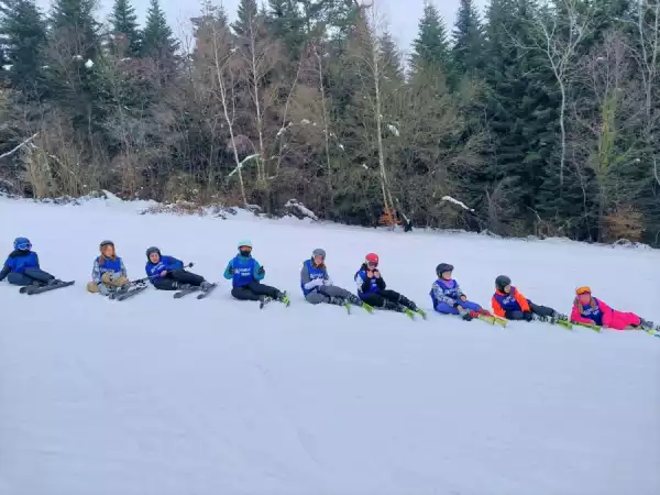
[[[77,280],[33,297],[0,284],[1,495],[660,493],[660,339],[348,316],[299,290],[315,248],[351,289],[375,251],[388,286],[428,309],[449,262],[488,307],[506,273],[562,312],[588,284],[660,321],[659,252],[139,207],[0,198],[0,254],[29,237],[45,270]],[[242,238],[290,308],[231,299],[222,271]],[[221,286],[202,301],[89,295],[103,239],[133,278],[158,245]]]

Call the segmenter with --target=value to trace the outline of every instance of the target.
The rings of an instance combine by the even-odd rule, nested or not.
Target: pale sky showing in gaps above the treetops
[[[112,0],[98,0],[101,7],[101,18],[105,20],[112,6]],[[261,0],[257,0],[261,2]],[[438,7],[440,14],[444,19],[449,33],[453,29],[459,0],[430,0]],[[476,0],[480,7],[484,7],[487,0]],[[38,4],[47,10],[51,3],[50,0],[37,0]],[[213,3],[223,3],[224,8],[233,20],[239,0],[223,0],[222,2],[213,1]],[[424,0],[375,0],[376,8],[382,12],[385,22],[389,25],[389,32],[393,34],[399,47],[403,51],[408,51],[410,42],[417,35],[417,25],[424,9]],[[144,21],[148,0],[133,0],[133,6],[139,14],[140,22]],[[161,0],[163,10],[167,13],[167,19],[174,33],[180,37],[183,31],[189,29],[189,19],[196,16],[201,7],[198,0]]]

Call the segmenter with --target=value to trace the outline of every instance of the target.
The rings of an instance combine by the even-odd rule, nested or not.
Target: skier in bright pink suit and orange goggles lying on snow
[[[605,302],[592,296],[591,288],[579,287],[571,311],[571,321],[597,324],[613,330],[626,330],[628,327],[653,330],[653,322],[638,317],[634,312],[612,309]],[[658,330],[658,328],[656,328]]]

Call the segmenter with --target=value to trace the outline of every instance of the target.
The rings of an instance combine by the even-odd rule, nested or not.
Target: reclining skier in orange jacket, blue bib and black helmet
[[[495,278],[495,294],[491,302],[493,312],[507,320],[568,320],[565,315],[561,315],[547,306],[535,305],[527,299],[512,285],[512,279],[506,275],[499,275]]]

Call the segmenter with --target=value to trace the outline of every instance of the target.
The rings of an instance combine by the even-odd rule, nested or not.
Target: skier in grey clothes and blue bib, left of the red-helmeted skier
[[[300,288],[305,299],[312,305],[321,302],[346,307],[355,305],[370,312],[373,310],[370,305],[363,302],[358,296],[332,283],[326,267],[326,251],[320,248],[314,250],[311,257],[302,262]]]

